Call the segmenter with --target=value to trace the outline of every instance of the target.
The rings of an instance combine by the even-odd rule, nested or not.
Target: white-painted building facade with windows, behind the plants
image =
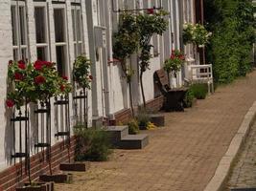
[[[151,70],[143,76],[147,101],[155,98],[153,73],[163,67],[174,49],[184,51],[188,59],[194,56],[191,45],[182,44],[184,22],[195,23],[195,0],[1,0],[0,1],[0,171],[13,164],[12,110],[5,106],[8,93],[7,72],[9,60],[36,59],[57,63],[59,74],[72,79],[73,62],[85,54],[92,62],[92,89],[88,91],[89,126],[99,117],[115,118],[115,114],[129,109],[128,87],[120,65],[112,53],[112,34],[116,32],[122,10],[163,8],[170,12],[168,30],[151,39]],[[142,104],[138,77],[138,58],[129,59],[136,73],[132,77],[134,105]],[[183,85],[185,72],[177,77]],[[176,82],[172,80],[174,85]],[[71,126],[74,124],[74,106],[70,96]],[[34,117],[33,108],[31,116]],[[54,110],[52,111],[52,145],[61,141],[55,138]],[[33,120],[33,119],[32,119]],[[34,124],[31,122],[31,137]],[[33,138],[31,140],[34,141]],[[31,155],[35,148],[31,146]],[[1,172],[0,172],[1,175]],[[1,185],[1,183],[0,183]]]

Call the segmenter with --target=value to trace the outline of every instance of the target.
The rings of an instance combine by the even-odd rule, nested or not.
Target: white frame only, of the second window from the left
[[[36,43],[36,54],[37,54],[37,48],[45,48],[46,49],[46,59],[51,60],[51,53],[50,53],[50,36],[49,36],[49,12],[48,12],[48,6],[46,2],[34,2],[34,11],[35,8],[43,8],[44,9],[44,19],[45,19],[45,43]],[[35,41],[36,41],[36,34],[35,34]]]

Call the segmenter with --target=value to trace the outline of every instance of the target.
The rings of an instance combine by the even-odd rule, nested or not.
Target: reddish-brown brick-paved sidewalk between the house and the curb
[[[202,191],[256,99],[256,72],[184,113],[166,114],[166,127],[148,131],[144,150],[116,150],[107,162],[74,173],[57,191]]]

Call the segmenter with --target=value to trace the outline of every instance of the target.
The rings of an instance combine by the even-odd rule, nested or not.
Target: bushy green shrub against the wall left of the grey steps
[[[111,154],[111,144],[104,130],[75,128],[77,138],[75,159],[105,161]]]

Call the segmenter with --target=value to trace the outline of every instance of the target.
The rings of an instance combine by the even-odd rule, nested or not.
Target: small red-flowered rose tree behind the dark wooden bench
[[[173,50],[171,56],[165,60],[164,70],[167,72],[169,83],[170,74],[176,78],[176,73],[181,69],[181,66],[184,62],[185,56],[179,50]]]

